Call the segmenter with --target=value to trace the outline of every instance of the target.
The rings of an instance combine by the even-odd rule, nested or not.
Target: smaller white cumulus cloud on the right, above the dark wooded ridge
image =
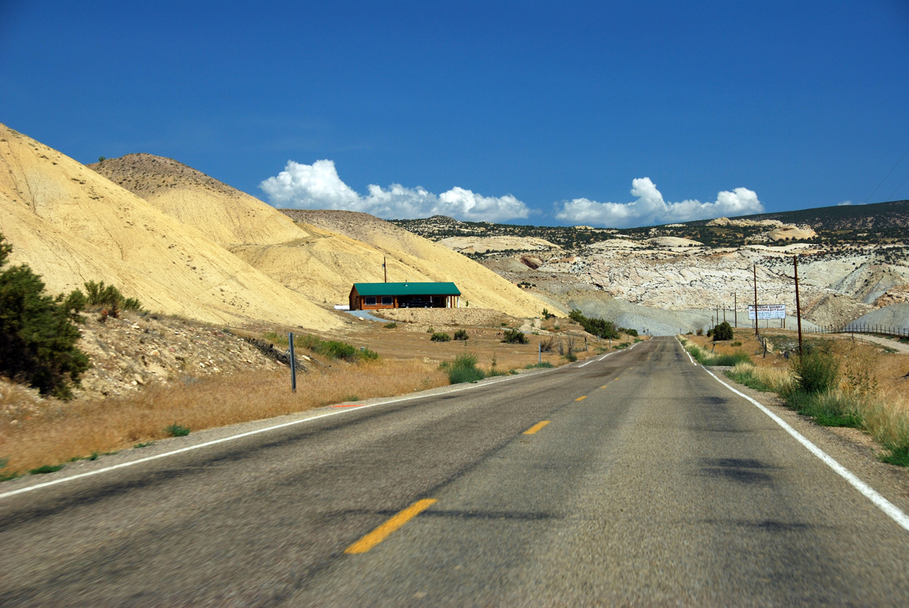
[[[667,224],[676,221],[706,220],[723,216],[747,215],[764,211],[757,193],[747,188],[722,191],[714,202],[686,200],[666,202],[649,177],[631,182],[631,202],[597,202],[574,199],[561,203],[555,217],[562,221],[601,224],[614,228]]]

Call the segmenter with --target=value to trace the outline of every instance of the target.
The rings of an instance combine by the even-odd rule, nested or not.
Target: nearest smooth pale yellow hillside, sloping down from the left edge
[[[51,292],[104,280],[146,308],[211,322],[340,321],[84,165],[0,125],[0,232]]]

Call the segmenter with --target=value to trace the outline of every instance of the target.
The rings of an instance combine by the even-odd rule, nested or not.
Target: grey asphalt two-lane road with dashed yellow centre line
[[[656,338],[0,497],[56,605],[906,606],[909,531]]]

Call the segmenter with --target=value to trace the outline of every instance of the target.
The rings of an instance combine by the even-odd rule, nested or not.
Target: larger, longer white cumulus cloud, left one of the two
[[[288,161],[285,170],[259,184],[268,202],[279,208],[364,211],[380,218],[425,218],[448,215],[467,221],[505,221],[526,218],[530,209],[511,194],[483,196],[464,188],[434,194],[425,188],[393,183],[368,186],[365,196],[338,176],[334,161],[311,165]]]

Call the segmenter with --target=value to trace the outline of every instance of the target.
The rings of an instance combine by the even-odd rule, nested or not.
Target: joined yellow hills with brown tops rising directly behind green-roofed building
[[[347,302],[355,282],[454,281],[462,303],[516,317],[546,306],[473,260],[365,213],[285,211],[172,159],[128,154],[89,165],[157,210],[316,304]]]

